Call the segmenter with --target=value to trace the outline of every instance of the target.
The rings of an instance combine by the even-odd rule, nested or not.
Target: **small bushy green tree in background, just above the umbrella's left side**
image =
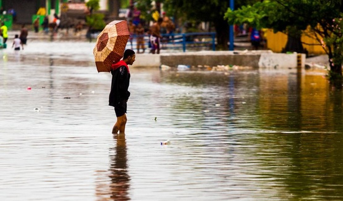
[[[86,24],[90,29],[101,30],[106,24],[104,22],[104,14],[94,13],[100,9],[99,0],[90,0],[86,3],[90,15],[86,16]]]

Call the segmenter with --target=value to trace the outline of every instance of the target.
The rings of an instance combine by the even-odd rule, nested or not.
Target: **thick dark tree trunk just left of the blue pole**
[[[217,35],[217,49],[228,50],[229,24],[224,18],[217,19],[214,23]]]

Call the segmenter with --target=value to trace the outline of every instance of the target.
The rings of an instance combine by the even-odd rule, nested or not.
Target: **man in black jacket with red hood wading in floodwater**
[[[109,93],[109,105],[114,107],[117,122],[113,126],[112,133],[125,133],[127,101],[130,97],[128,91],[130,84],[130,70],[128,65],[132,65],[136,55],[132,49],[124,52],[123,60],[112,64],[112,83]]]

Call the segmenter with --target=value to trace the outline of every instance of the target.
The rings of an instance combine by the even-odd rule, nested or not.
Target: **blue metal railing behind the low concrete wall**
[[[182,33],[182,34],[161,34],[160,48],[161,49],[182,49],[187,48],[209,48],[215,51],[215,32],[200,32],[200,33]],[[127,47],[137,49],[137,38],[143,37],[144,47],[149,46],[149,35],[132,35],[127,43]],[[131,47],[132,42],[132,47]]]

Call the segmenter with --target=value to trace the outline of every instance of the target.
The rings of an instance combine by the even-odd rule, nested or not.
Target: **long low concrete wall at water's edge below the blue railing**
[[[304,55],[303,55],[304,56]],[[303,56],[301,58],[303,58]],[[301,66],[305,63],[302,61]],[[253,68],[296,68],[297,54],[272,53],[270,51],[198,51],[164,53],[160,55],[137,54],[133,67],[158,67],[161,64],[176,67],[179,64],[198,65],[238,65]]]

